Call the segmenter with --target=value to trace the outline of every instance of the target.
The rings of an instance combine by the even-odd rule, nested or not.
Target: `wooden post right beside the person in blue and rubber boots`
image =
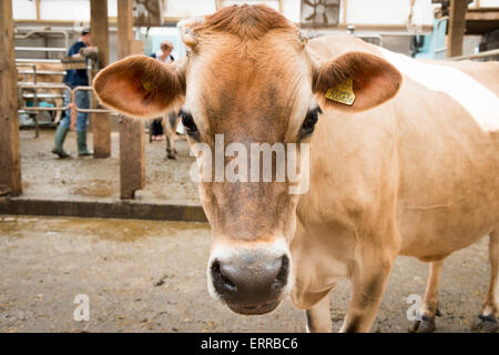
[[[90,28],[92,45],[99,50],[99,68],[109,64],[108,1],[90,0]],[[96,108],[96,100],[92,100]],[[105,113],[92,113],[93,158],[111,156],[111,118]]]

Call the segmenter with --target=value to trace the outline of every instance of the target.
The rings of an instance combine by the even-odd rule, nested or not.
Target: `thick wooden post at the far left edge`
[[[0,195],[19,195],[21,153],[12,2],[0,1]]]

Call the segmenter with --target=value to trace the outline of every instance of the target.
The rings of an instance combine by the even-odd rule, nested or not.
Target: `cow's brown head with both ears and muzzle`
[[[100,72],[94,89],[103,104],[130,116],[159,116],[183,102],[189,143],[203,143],[213,152],[197,151],[204,178],[200,195],[213,234],[208,288],[235,312],[267,313],[293,284],[289,243],[299,194],[289,191],[303,181],[287,174],[276,179],[283,163],[276,163],[277,151],[272,153],[272,182],[262,181],[263,162],[259,180],[252,180],[252,143],[283,144],[285,165],[289,143],[297,144],[295,163],[303,176],[308,160],[299,154],[299,143],[310,141],[320,106],[373,108],[396,93],[400,74],[388,62],[360,52],[315,63],[296,27],[262,6],[224,8],[183,31],[190,47],[185,61],[163,64],[129,57]],[[323,99],[347,79],[356,94],[353,105]],[[217,161],[220,149],[222,156]],[[236,159],[248,163],[247,171],[233,171],[236,181],[216,176]]]

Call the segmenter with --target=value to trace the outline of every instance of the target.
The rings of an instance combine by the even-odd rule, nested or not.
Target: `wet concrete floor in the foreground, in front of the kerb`
[[[469,332],[489,280],[488,241],[444,266],[439,332]],[[0,215],[0,332],[304,332],[305,314],[285,300],[262,316],[213,301],[204,223]],[[407,332],[410,294],[425,292],[428,265],[398,257],[374,332]],[[77,322],[85,294],[90,320]],[[333,291],[338,331],[349,285]]]

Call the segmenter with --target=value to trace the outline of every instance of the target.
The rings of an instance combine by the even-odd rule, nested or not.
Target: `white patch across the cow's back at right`
[[[386,60],[411,80],[456,100],[483,131],[499,130],[499,100],[477,80],[456,68],[426,63],[384,48],[378,49]]]

